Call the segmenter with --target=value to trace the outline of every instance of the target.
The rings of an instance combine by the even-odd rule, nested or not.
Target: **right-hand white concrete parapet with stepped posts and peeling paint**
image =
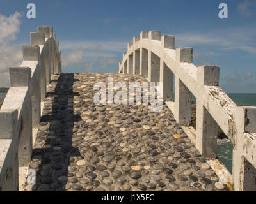
[[[228,182],[235,191],[256,191],[256,107],[237,106],[227,96],[218,86],[219,66],[196,67],[193,48],[175,49],[175,36],[141,31],[128,43],[119,73],[143,75],[149,82],[163,83],[160,94],[166,105],[217,174],[225,168],[216,160],[220,126],[234,145],[233,172]],[[196,130],[191,126],[192,94],[196,98]]]

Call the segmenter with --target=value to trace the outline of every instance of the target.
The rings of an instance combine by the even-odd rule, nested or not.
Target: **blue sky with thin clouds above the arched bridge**
[[[36,19],[26,18],[28,3]],[[228,5],[228,19],[218,5]],[[16,12],[16,13],[15,13]],[[140,31],[175,35],[176,47],[193,47],[194,64],[220,66],[225,92],[256,92],[256,1],[18,1],[0,2],[0,87],[8,66],[21,62],[21,45],[38,25],[52,25],[63,72],[117,72],[127,43]]]

